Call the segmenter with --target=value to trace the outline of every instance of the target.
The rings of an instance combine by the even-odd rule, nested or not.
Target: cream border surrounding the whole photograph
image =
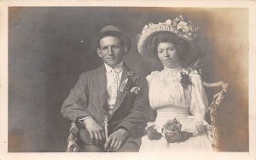
[[[147,2],[147,3],[145,3]],[[85,7],[85,6],[112,6],[112,7],[184,7],[184,8],[247,8],[249,9],[249,151],[248,152],[215,152],[201,153],[189,152],[186,154],[172,153],[9,153],[8,152],[8,8],[18,6],[60,6],[60,7]],[[256,158],[256,2],[255,1],[1,1],[0,2],[0,160],[2,159],[255,159]]]

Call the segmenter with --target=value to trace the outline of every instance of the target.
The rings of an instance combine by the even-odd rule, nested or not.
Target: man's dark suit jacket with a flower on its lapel
[[[143,135],[149,118],[148,83],[139,77],[124,63],[120,85],[129,76],[132,87],[138,87],[138,94],[131,93],[131,88],[118,91],[113,114],[109,116],[109,134],[119,128],[125,128],[130,133],[128,140],[135,140]],[[71,90],[61,108],[63,117],[73,122],[79,117],[93,117],[104,127],[104,117],[107,113],[107,77],[105,66],[84,72],[78,83]],[[90,143],[90,135],[86,129],[79,129],[80,138],[84,143]]]

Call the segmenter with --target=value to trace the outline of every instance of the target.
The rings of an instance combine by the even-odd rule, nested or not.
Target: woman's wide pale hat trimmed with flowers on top
[[[193,42],[197,39],[197,32],[199,28],[192,24],[190,20],[185,21],[180,15],[174,20],[166,20],[160,23],[149,23],[144,26],[143,31],[138,35],[137,49],[140,54],[148,53],[148,42],[152,37],[161,31],[171,31],[177,37],[183,40]]]

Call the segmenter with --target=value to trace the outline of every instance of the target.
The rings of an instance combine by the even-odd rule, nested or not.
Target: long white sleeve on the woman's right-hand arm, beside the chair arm
[[[208,106],[207,94],[202,85],[201,76],[197,71],[191,73],[191,101],[190,113],[199,119],[204,119],[205,112]]]

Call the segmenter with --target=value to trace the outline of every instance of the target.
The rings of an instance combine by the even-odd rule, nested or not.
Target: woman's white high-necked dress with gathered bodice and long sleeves
[[[153,71],[148,75],[148,98],[150,106],[157,113],[153,122],[154,129],[161,133],[163,125],[168,120],[176,118],[182,124],[182,130],[193,133],[193,136],[183,142],[167,143],[164,136],[160,140],[149,140],[145,135],[140,147],[141,152],[213,151],[207,137],[207,122],[204,120],[208,101],[201,76],[197,71],[189,73],[192,84],[189,84],[187,89],[183,89],[180,83],[181,71],[188,72],[182,67],[177,67]]]

